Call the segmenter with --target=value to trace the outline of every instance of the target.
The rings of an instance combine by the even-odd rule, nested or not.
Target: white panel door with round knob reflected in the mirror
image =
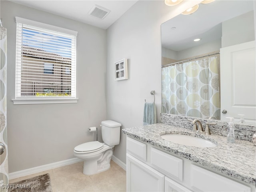
[[[244,114],[245,123],[256,120],[255,41],[220,49],[221,120]],[[224,113],[226,110],[226,113]]]

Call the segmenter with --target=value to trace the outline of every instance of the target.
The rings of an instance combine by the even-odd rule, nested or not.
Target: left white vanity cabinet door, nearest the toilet
[[[164,175],[126,154],[126,191],[163,192]]]

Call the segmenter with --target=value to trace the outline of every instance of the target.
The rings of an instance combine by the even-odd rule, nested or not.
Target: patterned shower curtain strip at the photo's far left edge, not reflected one
[[[1,22],[0,22],[1,24]],[[6,28],[0,26],[0,144],[5,148],[0,155],[0,191],[6,192],[8,185],[8,153],[7,153],[7,128],[6,128]]]

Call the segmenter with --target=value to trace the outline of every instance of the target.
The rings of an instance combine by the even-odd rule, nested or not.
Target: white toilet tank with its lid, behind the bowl
[[[120,142],[121,124],[112,120],[101,122],[102,140],[108,146],[118,145]]]

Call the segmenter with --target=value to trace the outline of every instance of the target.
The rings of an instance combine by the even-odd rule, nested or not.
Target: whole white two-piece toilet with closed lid
[[[86,142],[74,148],[74,156],[84,160],[85,175],[94,175],[110,168],[113,148],[120,142],[121,124],[112,120],[101,122],[102,140]]]

